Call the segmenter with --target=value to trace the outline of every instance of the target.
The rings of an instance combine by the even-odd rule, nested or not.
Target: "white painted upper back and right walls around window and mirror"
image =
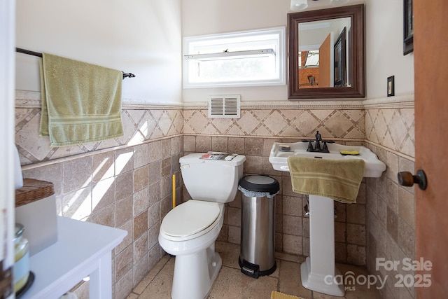
[[[351,0],[365,3],[367,99],[386,97],[388,76],[395,95],[414,93],[414,57],[402,55],[402,0]],[[330,0],[309,1],[308,10],[328,8]],[[290,0],[183,0],[183,36],[286,26]],[[261,88],[183,90],[183,102],[204,102],[209,95],[241,95],[241,101],[285,101],[286,85]],[[383,99],[384,100],[384,99]]]

